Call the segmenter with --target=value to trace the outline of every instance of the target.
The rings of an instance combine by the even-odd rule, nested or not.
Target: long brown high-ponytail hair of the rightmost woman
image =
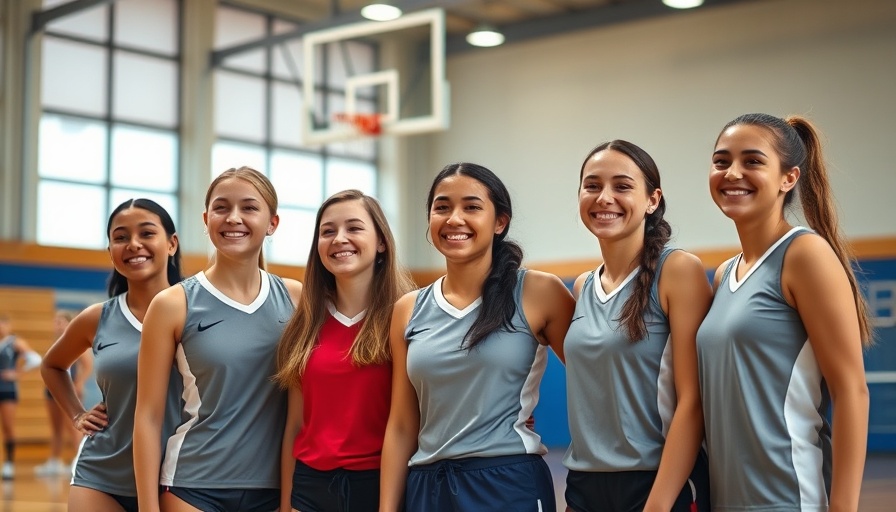
[[[843,270],[846,271],[846,277],[849,279],[853,299],[856,303],[862,345],[870,346],[873,334],[868,317],[868,306],[852,269],[852,263],[856,259],[855,254],[840,233],[837,210],[828,181],[828,171],[822,155],[818,130],[802,116],[781,119],[768,114],[744,114],[726,124],[722,128],[722,132],[736,125],[759,126],[773,135],[775,149],[781,158],[781,172],[799,167],[799,181],[797,186],[784,196],[784,206],[791,204],[794,191],[799,189],[800,203],[806,222],[810,228],[827,240],[831,248],[834,249],[837,259],[840,260]],[[719,137],[721,137],[721,133]]]

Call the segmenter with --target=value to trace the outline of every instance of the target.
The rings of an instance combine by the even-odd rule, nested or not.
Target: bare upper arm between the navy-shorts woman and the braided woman
[[[563,341],[576,309],[576,301],[559,277],[530,270],[523,285],[523,310],[532,331],[566,363]]]

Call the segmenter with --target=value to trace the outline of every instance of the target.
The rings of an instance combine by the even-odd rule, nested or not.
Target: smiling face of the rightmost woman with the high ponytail
[[[784,196],[796,186],[798,167],[782,169],[772,133],[738,124],[719,136],[712,156],[709,188],[727,217],[739,221],[783,215]]]

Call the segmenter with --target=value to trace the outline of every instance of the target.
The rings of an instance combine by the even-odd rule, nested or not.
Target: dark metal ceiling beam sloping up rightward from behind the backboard
[[[634,0],[547,18],[512,23],[500,26],[498,30],[504,34],[504,44],[513,44],[577,30],[593,29],[657,16],[686,14],[700,9],[747,1],[753,0],[706,0],[706,3],[697,9],[679,10],[667,7],[659,0]],[[448,36],[448,40],[445,42],[445,53],[456,55],[468,51],[482,51],[482,48],[477,48],[467,43],[465,38],[466,34]]]

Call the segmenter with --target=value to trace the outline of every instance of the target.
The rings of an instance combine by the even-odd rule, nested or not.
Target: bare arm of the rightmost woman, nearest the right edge
[[[858,510],[869,399],[852,289],[833,250],[815,235],[793,241],[781,284],[806,328],[833,402],[830,512]]]

